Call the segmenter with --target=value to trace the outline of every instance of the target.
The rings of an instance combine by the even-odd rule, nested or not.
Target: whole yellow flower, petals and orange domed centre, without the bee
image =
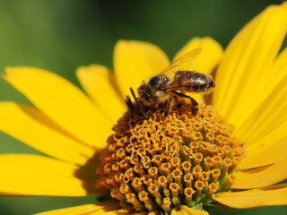
[[[150,43],[119,41],[115,75],[102,65],[80,67],[90,98],[54,73],[6,68],[4,79],[35,107],[2,102],[0,129],[52,158],[1,155],[0,193],[108,191],[114,199],[40,214],[207,214],[208,206],[286,204],[287,185],[277,185],[287,178],[287,49],[278,55],[286,23],[286,4],[272,5],[223,55],[210,38],[178,52],[203,49],[188,70],[211,73],[218,64],[212,102],[200,102],[196,115],[181,97],[170,109],[139,110],[139,100],[136,111],[126,110],[129,88],[170,64]]]

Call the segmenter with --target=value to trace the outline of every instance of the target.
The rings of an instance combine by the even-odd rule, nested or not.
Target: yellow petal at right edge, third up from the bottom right
[[[241,161],[240,169],[258,168],[274,164],[287,154],[287,137],[270,147],[264,147],[264,149],[261,149],[260,145],[258,145],[256,149],[253,148],[253,150],[257,150],[257,153],[251,154],[252,149],[250,148],[246,150],[248,156]]]

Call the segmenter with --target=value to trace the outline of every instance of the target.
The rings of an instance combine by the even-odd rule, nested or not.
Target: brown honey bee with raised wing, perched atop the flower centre
[[[188,66],[195,64],[196,56],[201,53],[201,48],[196,48],[186,55],[179,57],[161,73],[152,76],[146,83],[137,89],[140,100],[146,107],[158,107],[161,104],[174,105],[175,97],[187,98],[191,102],[191,112],[197,114],[198,103],[185,92],[209,93],[215,87],[210,74],[187,70]],[[135,98],[135,92],[131,89]],[[128,100],[126,104],[128,105]],[[137,99],[135,98],[137,102]],[[131,102],[129,102],[131,103]],[[130,104],[128,105],[130,106]]]

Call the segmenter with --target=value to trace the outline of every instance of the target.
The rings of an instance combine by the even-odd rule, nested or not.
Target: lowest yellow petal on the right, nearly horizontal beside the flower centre
[[[287,188],[274,190],[256,189],[243,192],[217,193],[213,199],[229,206],[230,208],[254,208],[271,205],[287,204]]]

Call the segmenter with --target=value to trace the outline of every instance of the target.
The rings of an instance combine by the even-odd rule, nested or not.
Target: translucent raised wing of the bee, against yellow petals
[[[201,48],[196,48],[192,51],[187,52],[184,56],[180,56],[174,62],[172,62],[168,67],[161,71],[167,75],[180,70],[190,70],[190,68],[196,64],[196,56],[201,53]]]

